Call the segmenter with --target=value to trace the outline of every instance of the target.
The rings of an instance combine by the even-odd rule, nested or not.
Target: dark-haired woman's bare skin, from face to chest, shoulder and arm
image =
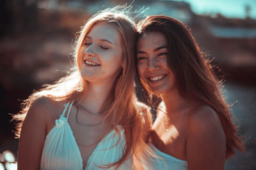
[[[223,169],[226,141],[220,119],[210,106],[180,94],[168,67],[167,57],[172,56],[167,55],[166,46],[161,32],[145,32],[138,39],[140,79],[162,99],[149,142],[161,152],[186,160],[189,170]]]

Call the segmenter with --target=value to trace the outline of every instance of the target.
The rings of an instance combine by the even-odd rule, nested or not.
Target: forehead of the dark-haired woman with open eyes
[[[145,32],[138,39],[139,50],[147,50],[148,48],[157,48],[159,46],[167,46],[166,37],[161,32]]]

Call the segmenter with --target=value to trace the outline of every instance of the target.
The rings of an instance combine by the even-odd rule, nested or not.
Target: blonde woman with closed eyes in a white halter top
[[[134,168],[150,120],[134,97],[134,33],[118,8],[88,20],[71,73],[31,94],[15,115],[18,169]]]

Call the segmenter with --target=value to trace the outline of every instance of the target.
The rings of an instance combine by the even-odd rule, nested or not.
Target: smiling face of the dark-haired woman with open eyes
[[[167,40],[161,32],[146,32],[138,40],[138,73],[141,81],[157,95],[173,87],[172,71],[167,62]]]

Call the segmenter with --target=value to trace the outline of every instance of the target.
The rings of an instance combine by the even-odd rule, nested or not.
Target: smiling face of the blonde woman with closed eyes
[[[94,25],[84,38],[79,55],[84,80],[113,83],[122,68],[122,41],[115,25]]]

